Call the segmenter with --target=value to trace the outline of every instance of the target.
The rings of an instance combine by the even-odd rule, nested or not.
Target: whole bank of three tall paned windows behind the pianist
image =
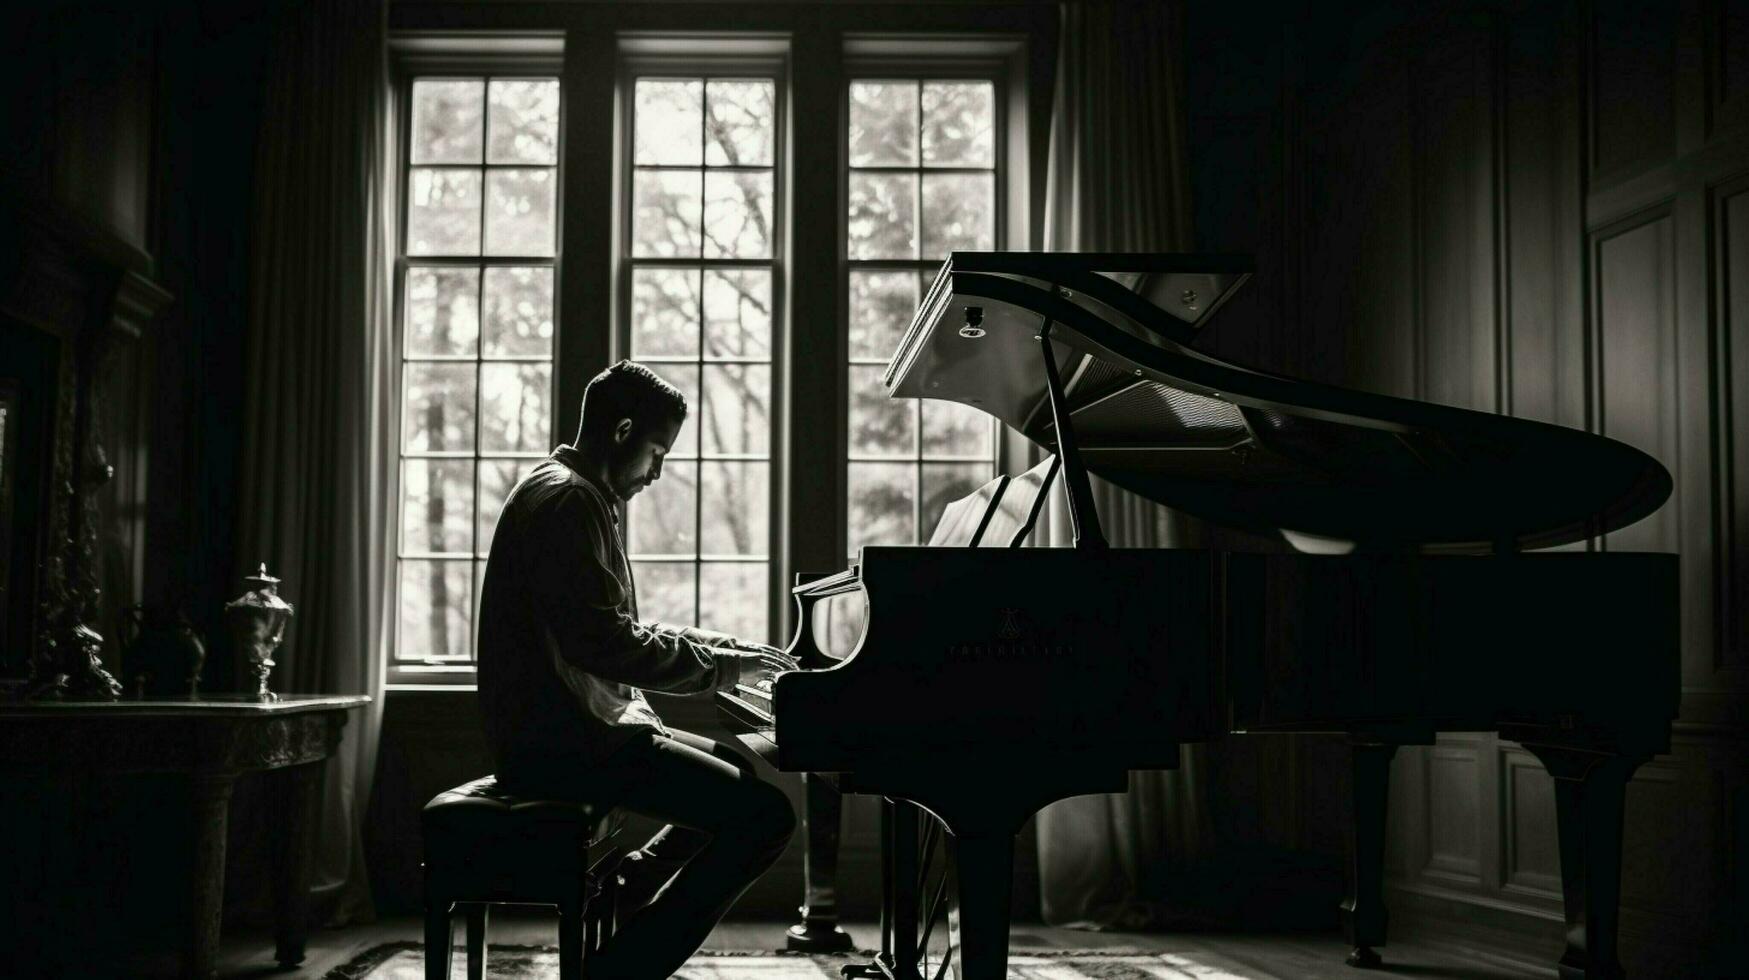
[[[684,32],[645,4],[505,32],[415,7],[390,35],[392,686],[474,681],[502,500],[619,357],[691,406],[623,514],[644,620],[782,640],[792,574],[927,537],[1007,462],[992,418],[880,376],[950,250],[1035,238],[1027,51],[1053,7],[948,5],[908,33],[834,5],[705,5]]]

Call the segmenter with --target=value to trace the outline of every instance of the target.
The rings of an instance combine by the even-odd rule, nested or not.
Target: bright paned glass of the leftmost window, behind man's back
[[[560,86],[413,77],[397,667],[470,670],[498,508],[553,448]]]

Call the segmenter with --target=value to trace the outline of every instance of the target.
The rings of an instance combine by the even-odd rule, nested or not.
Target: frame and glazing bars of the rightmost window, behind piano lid
[[[1007,33],[978,33],[978,35],[911,35],[911,33],[880,33],[880,35],[847,35],[845,37],[845,54],[841,61],[840,86],[838,86],[838,254],[836,254],[836,315],[838,315],[838,362],[836,371],[841,373],[841,385],[838,387],[840,397],[836,404],[836,458],[840,466],[840,486],[836,500],[836,527],[834,527],[834,551],[843,556],[845,562],[859,562],[861,548],[850,551],[850,464],[857,462],[850,453],[850,401],[854,397],[850,385],[850,369],[859,364],[850,357],[850,273],[854,270],[874,270],[874,271],[916,271],[918,275],[918,303],[929,292],[929,280],[936,271],[941,270],[944,259],[852,259],[850,257],[850,86],[854,82],[887,82],[887,80],[904,80],[918,82],[918,96],[922,96],[922,84],[932,80],[988,80],[993,84],[992,112],[993,112],[993,161],[992,175],[995,178],[995,233],[993,248],[1027,248],[1028,240],[1023,229],[1028,228],[1028,208],[1027,208],[1027,168],[1025,159],[1025,136],[1027,121],[1023,119],[1027,108],[1027,38],[1021,35]],[[1021,117],[1016,117],[1020,114]],[[918,116],[918,126],[922,126],[922,116]],[[1020,145],[1016,145],[1020,144]],[[1021,152],[1014,152],[1021,149]],[[927,173],[930,168],[922,163],[922,144],[918,144],[918,166],[915,168],[855,168],[864,172],[906,172],[906,173]],[[955,168],[941,168],[944,172],[953,172]],[[918,201],[922,201],[922,178],[918,178]],[[916,219],[916,236],[918,236],[918,256],[922,256],[922,212]],[[871,364],[864,360],[861,364]],[[1009,432],[995,418],[990,420],[990,478],[1002,472],[1013,472],[1023,467],[1016,467],[1018,458],[1016,446],[1007,438]],[[888,462],[899,462],[899,457],[887,457]],[[873,462],[873,460],[866,460]],[[929,541],[930,528],[922,525],[923,518],[923,481],[922,467],[925,462],[923,455],[923,432],[922,432],[922,408],[918,408],[918,430],[916,430],[916,452],[904,458],[908,466],[913,467],[915,474],[915,494],[911,499],[911,523],[913,523],[913,546],[920,546]],[[964,460],[958,457],[943,457],[941,462],[983,462],[983,460]]]

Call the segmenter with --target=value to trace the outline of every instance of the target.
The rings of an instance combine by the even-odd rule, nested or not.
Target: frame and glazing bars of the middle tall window
[[[635,135],[635,86],[640,77],[656,79],[771,79],[773,82],[773,133],[771,133],[771,254],[768,259],[708,259],[708,257],[637,257],[633,256],[635,198],[633,180],[637,177]],[[789,154],[789,105],[791,105],[791,58],[789,40],[766,35],[722,35],[722,37],[663,37],[663,35],[628,35],[619,42],[619,58],[614,65],[614,359],[631,357],[631,287],[637,266],[673,266],[673,268],[770,268],[771,270],[771,354],[770,374],[771,390],[768,394],[770,436],[766,443],[766,555],[763,560],[752,558],[745,564],[764,564],[766,567],[766,635],[745,637],[761,642],[782,642],[782,600],[787,590],[782,586],[784,574],[784,488],[787,480],[787,458],[784,453],[784,378],[787,371],[785,340],[789,336],[789,247],[791,247],[791,154]],[[700,170],[708,173],[710,164],[700,163]],[[703,217],[703,215],[701,215]],[[700,324],[703,329],[703,322]],[[680,360],[651,360],[659,373],[663,364],[682,364]],[[707,364],[703,348],[691,364]],[[700,396],[703,396],[703,368],[700,368]],[[701,404],[689,406],[691,425],[698,425]],[[701,436],[701,432],[700,432]],[[705,444],[698,439],[698,448],[691,460],[698,467],[698,481],[693,500],[693,528],[698,551],[691,556],[693,572],[693,614],[701,602],[701,572],[696,569],[707,560],[703,551],[703,511],[705,511]],[[757,460],[754,460],[757,462]],[[624,502],[619,504],[621,527],[630,532],[630,514]],[[630,534],[628,534],[630,541]],[[630,560],[630,550],[628,550]],[[679,564],[679,562],[677,562]],[[677,626],[686,623],[673,623]]]

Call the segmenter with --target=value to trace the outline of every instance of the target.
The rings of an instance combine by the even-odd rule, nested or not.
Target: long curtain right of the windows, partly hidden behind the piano
[[[1044,247],[1053,252],[1174,252],[1191,247],[1182,110],[1182,5],[1063,4],[1046,175]],[[1062,481],[1058,481],[1062,485]],[[1118,548],[1191,544],[1177,514],[1093,480]],[[1051,497],[1049,541],[1070,542]],[[1200,747],[1177,770],[1137,772],[1130,791],[1077,796],[1039,812],[1044,920],[1149,928],[1188,917],[1175,875],[1214,842]]]

